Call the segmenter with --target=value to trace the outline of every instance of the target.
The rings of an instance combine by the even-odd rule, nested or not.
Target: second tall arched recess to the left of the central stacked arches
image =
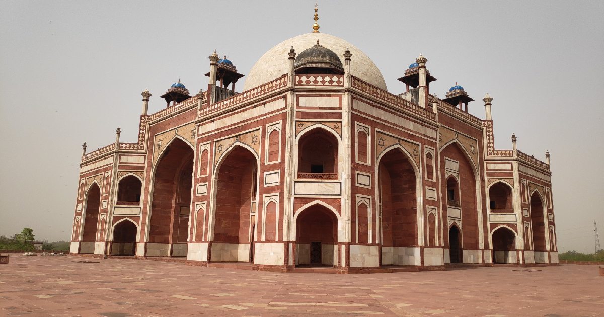
[[[147,255],[187,256],[192,183],[193,149],[175,138],[155,168]]]

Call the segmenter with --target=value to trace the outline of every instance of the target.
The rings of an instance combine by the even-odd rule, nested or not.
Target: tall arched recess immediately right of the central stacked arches
[[[382,246],[417,246],[417,184],[413,165],[400,149],[391,149],[379,159],[377,178]]]

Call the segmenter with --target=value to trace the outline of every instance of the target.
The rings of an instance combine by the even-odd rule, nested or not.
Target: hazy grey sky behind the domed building
[[[208,56],[242,74],[275,44],[307,33],[314,1],[0,1],[0,235],[69,239],[82,142],[135,142],[179,78],[207,88]],[[422,7],[417,7],[421,4]],[[444,97],[457,81],[494,98],[495,146],[551,153],[561,251],[604,243],[604,1],[320,1],[321,32],[354,43],[388,89],[422,53]],[[354,62],[354,56],[353,56]],[[243,78],[245,79],[245,77]],[[238,87],[242,87],[241,84]]]

